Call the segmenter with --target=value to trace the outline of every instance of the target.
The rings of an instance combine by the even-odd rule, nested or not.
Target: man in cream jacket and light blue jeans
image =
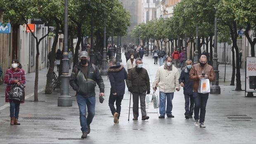
[[[159,118],[174,118],[172,115],[172,99],[175,90],[180,90],[179,72],[178,69],[172,65],[172,58],[167,57],[166,63],[160,66],[156,72],[156,78],[153,83],[153,90],[156,90],[156,84],[159,86]],[[166,106],[167,99],[167,106]]]

